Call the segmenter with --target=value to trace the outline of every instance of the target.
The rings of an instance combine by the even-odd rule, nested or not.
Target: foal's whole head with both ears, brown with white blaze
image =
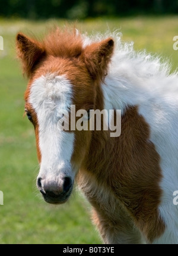
[[[18,56],[30,77],[25,111],[36,135],[40,163],[37,188],[46,202],[59,204],[69,198],[90,145],[88,113],[103,107],[97,94],[101,94],[100,82],[112,55],[113,40],[84,48],[79,36],[68,35],[63,45],[50,43],[49,39],[39,43],[17,35]],[[77,116],[80,110],[85,114]],[[77,122],[88,129],[78,130]]]

